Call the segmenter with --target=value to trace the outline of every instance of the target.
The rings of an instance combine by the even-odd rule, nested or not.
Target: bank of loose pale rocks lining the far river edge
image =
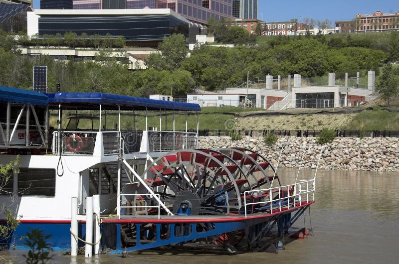
[[[399,171],[399,148],[396,137],[336,137],[333,142],[324,145],[320,167],[328,170],[369,170]],[[317,137],[282,136],[277,142],[268,146],[261,136],[243,136],[241,140],[232,141],[230,137],[203,137],[201,148],[244,147],[259,152],[273,165],[277,164],[281,148],[280,166],[299,168],[316,168],[322,145]]]

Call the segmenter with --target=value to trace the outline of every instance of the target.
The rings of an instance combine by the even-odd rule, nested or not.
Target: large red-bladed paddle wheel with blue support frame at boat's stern
[[[269,205],[276,197],[288,196],[290,189],[283,190],[273,166],[249,149],[168,152],[151,162],[140,178],[144,180],[135,185],[137,195],[130,202],[135,207],[133,215],[120,220],[122,248],[140,250],[178,243],[234,253],[233,246],[243,238],[252,249],[280,219],[291,219],[289,211],[284,218],[283,214],[272,215],[271,207],[277,205]],[[245,207],[245,199],[252,205]],[[289,201],[295,202],[285,199],[278,206],[281,209]],[[270,216],[241,221],[255,213]],[[145,223],[135,217],[145,218]],[[291,224],[279,224],[279,231],[285,232]]]

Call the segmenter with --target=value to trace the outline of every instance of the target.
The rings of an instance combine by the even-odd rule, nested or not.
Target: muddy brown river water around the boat
[[[295,181],[297,170],[279,169],[283,184]],[[299,179],[314,177],[301,170]],[[398,263],[399,173],[319,170],[316,203],[294,225],[311,228],[311,236],[285,245],[278,254],[214,252],[142,252],[100,255],[85,259],[55,253],[49,263]],[[14,263],[24,263],[20,251],[9,252]],[[1,259],[0,259],[1,262]]]

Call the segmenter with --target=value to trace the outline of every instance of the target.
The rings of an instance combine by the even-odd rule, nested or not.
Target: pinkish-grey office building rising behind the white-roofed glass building
[[[232,0],[73,0],[73,9],[114,8],[117,4],[123,6],[123,2],[126,2],[124,8],[127,9],[170,8],[188,20],[200,24],[205,24],[210,17],[218,20],[233,18]]]

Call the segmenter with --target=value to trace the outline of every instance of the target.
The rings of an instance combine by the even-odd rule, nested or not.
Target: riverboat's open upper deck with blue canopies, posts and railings
[[[12,90],[14,95],[10,96],[7,89]],[[0,90],[0,94],[0,101],[4,102],[1,103],[4,108],[2,112],[6,113],[0,120],[0,148],[7,149],[7,153],[52,152],[63,155],[108,156],[197,146],[198,118],[197,132],[193,132],[187,126],[187,112],[200,111],[198,104],[105,93],[57,92],[44,95],[15,88],[4,88]],[[57,115],[56,128],[50,127],[50,111]],[[91,117],[87,117],[88,111],[92,113]],[[138,129],[133,124],[133,129],[122,130],[124,124],[121,124],[121,111],[132,113],[133,123],[135,111],[145,112],[145,128]],[[173,112],[173,130],[169,131],[165,125],[163,128],[162,122],[162,118],[166,121],[167,111]],[[176,111],[186,112],[186,130],[183,132],[175,130]],[[75,115],[68,118],[65,112],[74,112]],[[117,122],[112,129],[107,128],[107,113],[109,115],[110,112],[117,116]],[[148,129],[149,112],[159,113],[160,118],[159,127],[152,130]],[[78,123],[84,119],[91,119],[91,126],[81,129]],[[69,123],[65,126],[66,120]]]

